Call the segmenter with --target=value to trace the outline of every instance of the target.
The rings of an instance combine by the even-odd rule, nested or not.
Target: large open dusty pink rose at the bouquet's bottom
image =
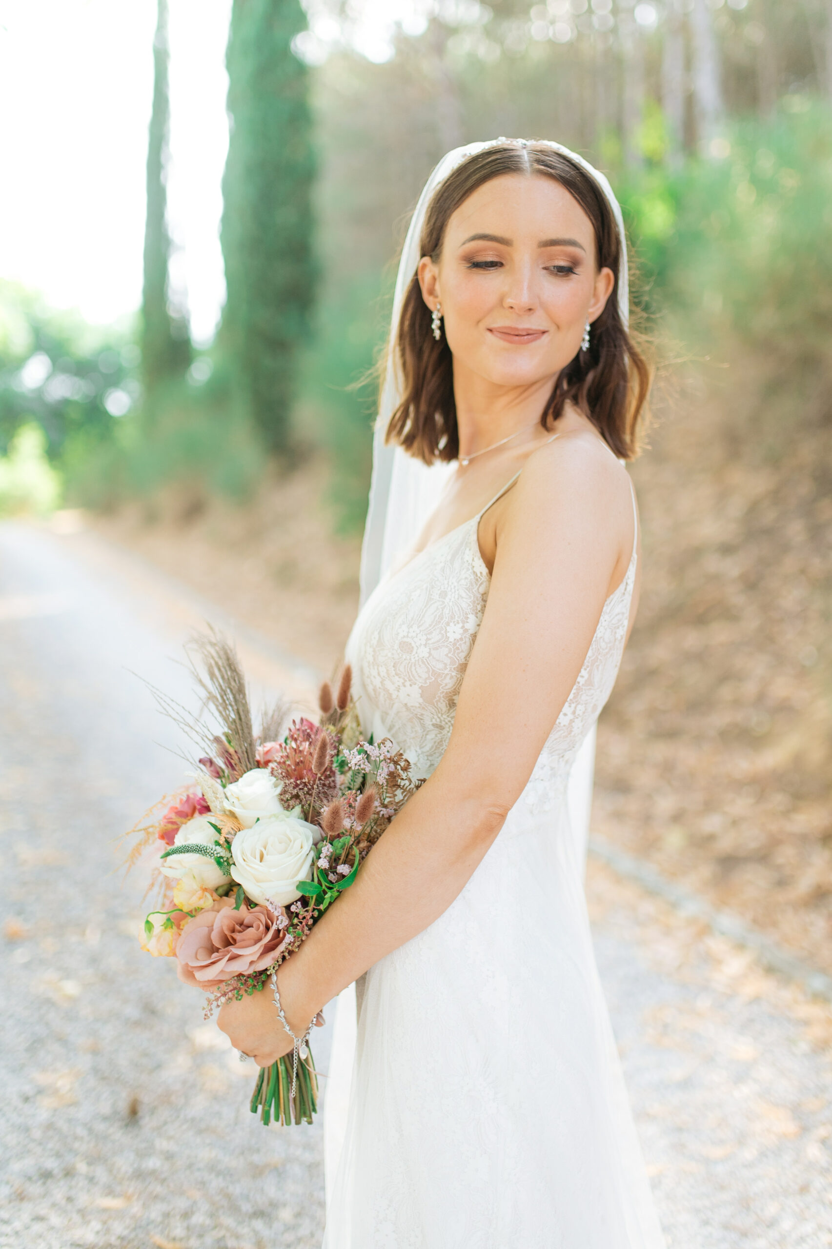
[[[232,898],[219,898],[182,927],[176,943],[179,978],[186,984],[215,989],[234,975],[262,972],[286,943],[287,916],[282,907],[234,909]]]

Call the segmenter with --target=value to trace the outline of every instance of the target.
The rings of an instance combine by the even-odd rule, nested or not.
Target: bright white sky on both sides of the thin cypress
[[[171,276],[194,336],[225,296],[231,0],[170,0]],[[0,276],[105,323],[141,301],[155,0],[0,0]]]

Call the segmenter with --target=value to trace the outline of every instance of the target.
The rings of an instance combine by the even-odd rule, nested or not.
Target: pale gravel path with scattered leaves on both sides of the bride
[[[86,535],[0,526],[0,1247],[317,1247],[320,1125],[249,1114],[254,1068],[139,950],[141,882],[111,874],[182,769],[125,669],[187,698],[169,657],[201,605]],[[297,692],[255,642],[261,691]],[[598,864],[590,897],[670,1244],[832,1245],[828,1005]]]

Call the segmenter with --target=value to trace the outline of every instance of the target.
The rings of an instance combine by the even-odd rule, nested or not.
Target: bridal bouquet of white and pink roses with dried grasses
[[[159,897],[142,948],[176,959],[179,978],[207,992],[210,1018],[269,984],[350,888],[417,786],[390,741],[361,739],[349,667],[336,693],[322,684],[317,723],[301,717],[284,729],[285,711],[276,707],[255,733],[245,678],[225,638],[197,637],[189,658],[204,694],[200,716],[154,693],[206,753],[189,782],[127,834],[135,837],[127,862],[152,847]],[[262,1123],[311,1123],[316,1107],[306,1045],[296,1072],[291,1055],[260,1069],[251,1110]]]

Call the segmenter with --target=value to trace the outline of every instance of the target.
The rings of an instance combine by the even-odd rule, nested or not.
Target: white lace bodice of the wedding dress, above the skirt
[[[445,752],[485,612],[491,577],[477,531],[488,507],[382,578],[347,642],[362,731],[376,741],[392,738],[416,777],[428,777]],[[532,811],[558,799],[612,691],[627,634],[636,547],[633,536],[625,578],[603,605],[583,667],[523,792]]]

